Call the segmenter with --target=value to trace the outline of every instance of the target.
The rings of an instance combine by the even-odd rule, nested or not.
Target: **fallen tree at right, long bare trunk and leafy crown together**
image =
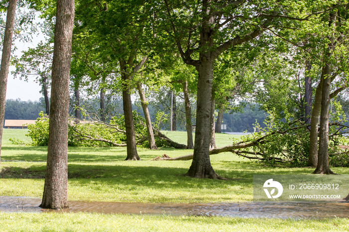
[[[295,124],[296,126],[291,127],[291,125]],[[214,155],[222,152],[231,152],[250,160],[267,162],[272,165],[287,163],[294,166],[306,166],[306,152],[308,150],[305,148],[307,146],[309,147],[309,144],[306,144],[306,142],[309,143],[307,125],[300,120],[286,125],[285,128],[272,132],[263,131],[250,136],[244,136],[242,141],[211,149],[209,154]],[[330,126],[337,126],[334,129],[334,133],[330,135],[332,140],[331,151],[333,153],[330,153],[329,156],[333,157],[332,163],[336,166],[348,166],[349,147],[340,145],[341,140],[339,139],[339,136],[342,136],[345,132],[339,132],[340,129],[338,129],[338,127],[341,129],[348,128],[348,126],[339,123],[332,123]],[[164,154],[163,157],[158,156],[152,160],[190,160],[192,158],[193,154],[178,157],[170,157]]]

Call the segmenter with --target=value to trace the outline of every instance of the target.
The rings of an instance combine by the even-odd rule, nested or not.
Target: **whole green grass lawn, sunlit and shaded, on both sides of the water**
[[[29,141],[25,129],[4,129],[0,196],[42,196],[47,147],[13,145],[16,138]],[[185,132],[168,137],[186,143]],[[217,147],[232,143],[236,136],[216,134]],[[228,180],[183,177],[189,161],[151,161],[192,150],[138,149],[142,161],[124,161],[126,148],[69,147],[68,199],[106,202],[208,203],[252,201],[254,174],[310,174],[309,168],[265,167],[231,153],[211,156],[214,170]],[[333,168],[349,174],[348,168]],[[87,213],[0,213],[1,231],[348,231],[348,219],[281,220],[218,217],[103,215]]]

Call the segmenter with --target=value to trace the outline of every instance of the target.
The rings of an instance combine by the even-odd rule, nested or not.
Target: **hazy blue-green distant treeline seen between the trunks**
[[[89,99],[84,100],[84,103],[81,104],[81,107],[85,107],[87,112],[91,113],[91,116],[98,115],[98,103],[99,99]],[[73,105],[73,104],[72,104]],[[106,107],[108,115],[122,114],[122,102],[120,99],[114,99],[109,106]],[[133,110],[144,116],[142,108],[133,105]],[[149,112],[151,118],[155,121],[155,115],[157,111],[164,111],[168,116],[168,120],[165,121],[162,125],[162,128],[165,130],[170,129],[170,112],[169,110],[159,106],[149,106]],[[20,99],[16,100],[6,100],[5,108],[5,119],[25,119],[25,120],[35,120],[39,116],[39,112],[45,112],[45,103],[44,99],[41,98],[39,101],[21,101]],[[177,106],[177,117],[176,117],[176,130],[185,130],[185,117],[180,106]],[[193,109],[195,111],[195,109]],[[71,116],[74,116],[74,107],[71,106],[69,109]],[[84,116],[81,116],[84,118]],[[263,120],[265,119],[266,114],[264,111],[259,110],[258,105],[247,105],[244,108],[240,109],[239,112],[231,113],[226,111],[223,115],[222,124],[226,124],[227,129],[225,132],[243,132],[245,130],[253,131],[254,123],[256,121],[263,125]],[[195,118],[193,118],[193,124],[195,124]],[[223,131],[222,131],[223,132]]]

